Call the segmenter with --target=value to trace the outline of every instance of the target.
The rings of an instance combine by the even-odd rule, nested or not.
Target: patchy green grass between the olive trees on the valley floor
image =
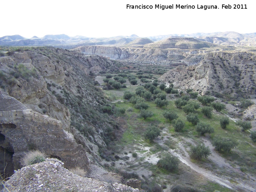
[[[118,95],[117,98],[122,99],[124,91],[131,91],[135,92],[136,86],[127,87],[125,89],[120,89],[118,91],[116,90],[110,90],[107,91],[107,93],[112,93]],[[106,91],[105,91],[106,92]],[[122,99],[123,100],[123,99]],[[182,108],[176,108],[174,105],[174,100],[169,101],[169,105],[167,107],[159,108],[156,107],[156,104],[154,101],[146,101],[146,103],[149,105],[148,110],[153,112],[153,116],[150,118],[147,118],[144,120],[144,118],[140,118],[140,110],[135,109],[134,105],[131,104],[128,101],[125,102],[117,102],[115,103],[116,108],[125,108],[126,112],[123,116],[125,118],[125,121],[127,123],[127,128],[124,131],[124,134],[121,138],[121,140],[118,142],[120,146],[134,146],[142,144],[145,147],[150,147],[149,155],[159,153],[160,156],[162,156],[162,153],[164,152],[164,149],[157,143],[149,142],[148,140],[144,139],[144,131],[146,130],[147,126],[150,126],[151,124],[157,124],[160,127],[166,127],[168,128],[168,134],[171,133],[172,137],[175,137],[176,139],[182,140],[182,138],[189,138],[197,142],[201,142],[201,137],[208,137],[201,136],[196,132],[196,126],[189,123],[186,119],[186,114],[182,110]],[[127,111],[128,108],[132,108],[132,111]],[[182,119],[185,122],[184,129],[181,132],[174,132],[172,122],[165,119],[163,116],[163,112],[165,110],[172,110],[175,111],[179,118]],[[211,126],[214,128],[214,133],[210,134],[210,140],[212,140],[214,137],[220,136],[220,137],[229,137],[231,139],[237,140],[239,142],[239,145],[237,148],[231,150],[231,152],[224,153],[224,152],[218,152],[220,156],[226,158],[229,160],[232,166],[236,167],[238,165],[240,167],[240,170],[243,172],[251,173],[252,175],[255,175],[256,170],[256,149],[255,144],[251,141],[249,135],[250,133],[248,131],[242,132],[241,128],[239,128],[234,121],[230,119],[229,125],[226,129],[222,129],[220,127],[220,118],[223,116],[221,113],[216,112],[213,110],[212,118],[207,118],[203,115],[201,112],[201,109],[199,108],[195,112],[198,115],[198,118],[200,122],[205,122],[208,124],[211,124]],[[161,129],[161,128],[160,128]],[[169,143],[166,143],[170,148],[176,148],[176,143],[178,141],[172,141]],[[136,151],[140,154],[147,152],[147,150],[142,151]],[[147,157],[140,158],[142,161],[143,159],[147,159]],[[202,161],[193,161],[194,163],[198,164],[200,167],[207,168],[208,170],[216,170],[219,169],[219,167],[216,167],[217,165],[210,161],[209,159],[203,159]],[[184,174],[184,167],[185,165],[180,165],[181,168],[175,170],[174,172],[168,172],[164,169],[158,168],[156,165],[148,164],[147,162],[140,162],[145,169],[148,169],[149,171],[152,171],[153,180],[157,180],[161,182],[162,180],[169,180],[171,183],[178,183],[183,182],[181,179],[182,175]],[[211,169],[210,169],[211,168]],[[186,168],[188,169],[188,168]],[[217,170],[218,171],[218,170]],[[218,171],[218,172],[221,172]],[[221,172],[223,174],[225,172]],[[191,173],[192,174],[192,173]],[[228,174],[228,173],[225,173]],[[185,176],[184,176],[185,177]],[[235,180],[236,177],[239,177],[239,175],[230,175],[230,177]],[[168,178],[168,179],[167,179]],[[231,180],[232,180],[231,179]],[[173,180],[173,181],[171,181]],[[168,182],[169,182],[168,181]],[[205,181],[205,180],[199,180],[199,182],[204,182],[204,185],[201,184],[195,184],[195,188],[197,187],[200,190],[203,191],[224,191],[229,192],[232,191],[228,188],[225,188],[218,183],[214,183],[211,181]],[[185,185],[185,184],[184,184]],[[194,185],[193,185],[194,186]]]

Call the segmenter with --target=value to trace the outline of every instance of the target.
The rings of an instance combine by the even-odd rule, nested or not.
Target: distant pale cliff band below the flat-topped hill
[[[76,48],[85,55],[102,55],[113,60],[132,62],[173,62],[183,61],[193,65],[201,61],[205,50],[160,49],[160,48],[119,48],[108,46],[82,46]]]

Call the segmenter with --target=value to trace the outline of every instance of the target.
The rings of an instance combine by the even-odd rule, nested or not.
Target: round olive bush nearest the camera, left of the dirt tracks
[[[178,168],[180,160],[176,156],[171,156],[167,153],[162,159],[157,162],[158,167],[162,167],[168,171],[172,171]]]

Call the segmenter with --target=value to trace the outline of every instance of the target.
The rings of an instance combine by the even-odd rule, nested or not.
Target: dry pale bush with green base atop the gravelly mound
[[[36,150],[36,151],[28,151],[25,153],[23,159],[21,160],[21,164],[23,166],[28,166],[36,163],[40,163],[45,161],[46,155],[45,153]]]

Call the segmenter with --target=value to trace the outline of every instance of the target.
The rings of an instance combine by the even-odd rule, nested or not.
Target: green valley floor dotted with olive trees
[[[232,191],[212,181],[208,181],[207,187],[200,186],[200,182],[194,183],[193,187],[184,183],[181,175],[184,174],[185,165],[170,152],[176,149],[184,155],[185,152],[178,147],[183,143],[190,161],[199,167],[207,168],[220,175],[230,174],[231,181],[240,177],[225,172],[216,162],[209,159],[212,152],[215,152],[226,159],[231,166],[239,167],[241,172],[254,175],[256,170],[256,151],[253,143],[255,134],[246,131],[250,129],[250,125],[246,125],[246,123],[250,124],[249,122],[236,123],[229,119],[226,116],[225,104],[215,102],[214,97],[198,96],[198,93],[193,90],[181,91],[173,88],[172,84],[166,86],[157,82],[158,75],[153,71],[154,77],[151,75],[151,78],[147,73],[136,72],[134,68],[123,73],[125,74],[123,78],[126,79],[123,86],[126,87],[109,89],[105,94],[115,102],[113,103],[115,108],[125,111],[124,114],[113,114],[119,119],[124,133],[111,151],[112,154],[122,156],[121,160],[127,157],[127,165],[124,166],[126,168],[117,165],[120,159],[114,159],[111,157],[114,155],[108,153],[107,162],[110,163],[114,159],[115,165],[106,163],[105,166],[121,173],[126,170],[138,174],[136,177],[142,180],[142,188],[148,191],[155,191],[155,184],[174,186],[177,183],[183,183],[183,186],[187,187],[186,191]],[[113,73],[111,75],[118,76]],[[148,79],[143,76],[148,76]],[[131,80],[136,80],[137,86],[130,86],[133,85]],[[103,89],[105,87],[108,85],[103,84]],[[246,103],[252,102],[242,100],[241,103],[243,108],[248,105]],[[202,139],[209,140],[213,149],[205,146]],[[144,150],[140,146],[150,149]],[[132,164],[131,157],[125,157],[125,154],[128,154],[125,149],[130,147],[133,148],[132,151],[129,150],[130,152],[138,154],[133,161],[135,163]],[[147,161],[147,158],[151,159],[152,156],[159,159],[156,164],[149,163],[150,160]],[[133,155],[132,158],[134,158]],[[244,158],[247,161],[244,161]],[[137,169],[140,169],[143,174],[137,172]],[[194,174],[188,167],[187,169],[191,175]],[[150,170],[152,173],[145,176],[145,170]]]

